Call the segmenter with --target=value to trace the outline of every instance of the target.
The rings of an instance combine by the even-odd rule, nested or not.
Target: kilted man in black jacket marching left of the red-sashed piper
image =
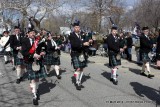
[[[4,48],[10,44],[13,54],[13,62],[15,69],[17,71],[17,81],[16,83],[19,84],[23,80],[23,74],[25,72],[25,64],[23,60],[23,56],[21,54],[22,50],[22,40],[23,35],[20,34],[20,28],[18,26],[14,27],[14,34],[10,36],[8,42],[5,44]]]

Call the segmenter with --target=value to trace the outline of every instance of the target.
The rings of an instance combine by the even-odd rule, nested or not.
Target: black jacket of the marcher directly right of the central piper
[[[112,51],[114,53],[120,52],[120,43],[118,37],[115,39],[112,34],[107,37],[108,51]]]

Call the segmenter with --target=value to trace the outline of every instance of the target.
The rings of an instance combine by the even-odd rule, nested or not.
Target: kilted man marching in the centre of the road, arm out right
[[[89,42],[83,42],[80,35],[79,21],[75,21],[73,24],[74,31],[70,34],[69,40],[71,43],[71,60],[75,69],[74,76],[76,78],[76,88],[81,90],[81,80],[83,76],[83,68],[86,67],[86,61],[84,58],[84,46],[89,46]]]

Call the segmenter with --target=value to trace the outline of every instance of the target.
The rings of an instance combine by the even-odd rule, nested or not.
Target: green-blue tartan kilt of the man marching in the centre
[[[80,62],[78,57],[79,56],[72,56],[71,58],[74,69],[85,68],[87,66],[86,61]]]

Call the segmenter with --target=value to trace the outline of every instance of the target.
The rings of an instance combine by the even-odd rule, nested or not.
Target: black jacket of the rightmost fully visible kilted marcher
[[[149,53],[153,47],[151,39],[147,38],[144,34],[140,36],[140,51],[142,53]]]

